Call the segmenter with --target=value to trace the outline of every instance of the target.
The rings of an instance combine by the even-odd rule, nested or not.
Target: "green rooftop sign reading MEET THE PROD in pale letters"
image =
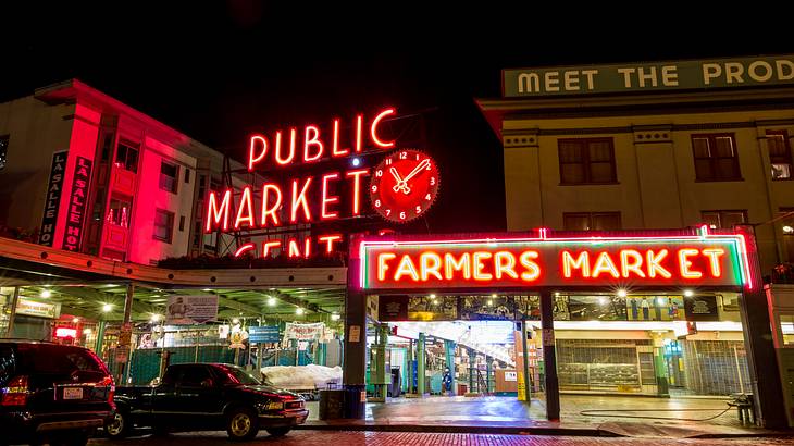
[[[794,55],[503,70],[506,98],[794,84]]]

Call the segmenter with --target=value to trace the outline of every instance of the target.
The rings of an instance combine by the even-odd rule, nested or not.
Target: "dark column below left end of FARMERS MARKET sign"
[[[347,283],[356,283],[358,259],[350,259]],[[348,286],[345,298],[345,346],[343,385],[345,386],[345,418],[363,419],[367,401],[367,313],[365,296]]]

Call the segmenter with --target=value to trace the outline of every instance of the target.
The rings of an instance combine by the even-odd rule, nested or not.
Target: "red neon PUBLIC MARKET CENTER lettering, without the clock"
[[[339,119],[327,132],[314,124],[302,128],[255,134],[249,139],[249,172],[268,171],[261,185],[247,184],[238,190],[212,190],[204,209],[204,232],[265,230],[284,225],[319,223],[361,215],[361,197],[369,168],[334,169],[321,174],[280,178],[278,171],[297,165],[351,157],[368,150],[388,150],[396,141],[382,132],[382,123],[396,114],[388,108],[367,119],[357,114],[350,135],[344,135]],[[320,234],[305,239],[265,239],[238,247],[236,257],[257,252],[261,257],[284,250],[290,258],[330,253],[340,246],[340,234]]]

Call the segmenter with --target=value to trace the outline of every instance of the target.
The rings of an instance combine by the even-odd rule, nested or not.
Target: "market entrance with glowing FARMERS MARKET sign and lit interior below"
[[[496,371],[510,377],[514,371],[516,393],[505,395],[517,400],[529,394],[526,417],[539,412],[538,418],[557,420],[560,400],[568,416],[566,406],[583,413],[617,401],[623,409],[647,410],[650,405],[665,411],[682,407],[678,400],[670,404],[678,397],[732,393],[753,394],[756,410],[762,413],[767,389],[755,377],[762,340],[750,333],[766,314],[748,306],[764,296],[753,278],[756,267],[748,260],[747,234],[712,234],[705,227],[595,236],[539,230],[526,235],[439,238],[368,237],[352,250],[346,305],[348,389],[358,387],[371,398],[385,399],[388,387],[394,388],[393,379],[386,377],[394,364],[389,361],[383,379],[373,380],[373,358],[384,355],[385,363],[393,358],[386,355],[390,347],[407,344],[407,351],[417,356],[441,357],[444,351],[444,360],[436,363],[445,369],[456,366],[454,394],[497,395]],[[467,302],[485,308],[491,301],[497,307],[494,299],[503,298],[510,302],[504,322],[513,336],[512,345],[500,347],[511,361],[489,361],[488,355],[480,361],[469,349],[488,345],[487,336],[498,330],[489,327],[487,334],[471,336],[470,345],[458,340],[461,333],[476,333],[473,326],[483,323],[479,319],[493,317],[467,314],[472,308]],[[422,317],[421,308],[432,315]],[[452,317],[452,309],[459,313]],[[368,320],[371,336],[364,339],[360,327]],[[456,326],[464,329],[456,332]],[[395,340],[400,337],[407,340]],[[429,338],[433,339],[430,345]],[[450,350],[447,343],[463,346]],[[415,346],[431,352],[420,352]],[[526,371],[522,351],[528,352]],[[426,399],[438,389],[439,366],[429,369],[425,360],[425,384],[422,370],[413,379],[410,362],[399,366],[408,369],[400,379],[415,382],[418,396]],[[471,376],[479,376],[481,368],[485,369],[484,385],[477,386],[480,380]],[[425,387],[423,393],[418,392],[420,385]],[[400,386],[406,388],[412,389],[410,384]],[[442,384],[443,391],[447,388]],[[607,395],[612,400],[605,402]],[[534,401],[539,410],[532,410]],[[670,414],[675,418],[675,412],[662,418]]]

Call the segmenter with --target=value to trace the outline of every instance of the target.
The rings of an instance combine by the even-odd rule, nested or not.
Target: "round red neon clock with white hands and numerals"
[[[435,161],[418,150],[397,150],[372,172],[372,208],[390,222],[408,222],[427,212],[438,194]]]

